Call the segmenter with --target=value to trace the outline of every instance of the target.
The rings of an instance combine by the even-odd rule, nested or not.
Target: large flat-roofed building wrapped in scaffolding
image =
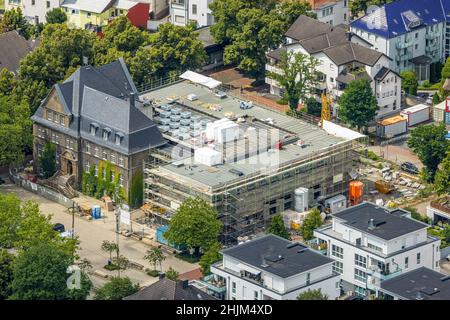
[[[141,96],[169,141],[144,163],[144,202],[159,224],[198,196],[217,209],[222,240],[232,244],[299,201],[312,207],[347,193],[364,136],[252,105],[211,81],[195,76]]]

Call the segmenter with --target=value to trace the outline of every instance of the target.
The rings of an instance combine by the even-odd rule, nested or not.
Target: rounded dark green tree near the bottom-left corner
[[[64,300],[67,298],[67,268],[72,257],[60,248],[38,244],[14,261],[13,300]]]

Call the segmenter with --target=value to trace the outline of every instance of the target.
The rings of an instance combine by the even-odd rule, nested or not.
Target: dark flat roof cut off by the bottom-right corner
[[[450,300],[450,276],[421,267],[383,281],[381,289],[406,300]]]

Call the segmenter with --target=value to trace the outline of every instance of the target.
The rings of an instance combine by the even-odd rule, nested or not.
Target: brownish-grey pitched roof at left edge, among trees
[[[0,70],[6,68],[11,72],[16,72],[19,69],[20,60],[31,50],[31,42],[17,31],[0,34]]]

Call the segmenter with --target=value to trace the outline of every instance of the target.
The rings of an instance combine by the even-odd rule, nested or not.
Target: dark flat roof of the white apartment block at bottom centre
[[[266,235],[222,250],[222,254],[282,278],[288,278],[333,261],[300,243],[275,235]]]

